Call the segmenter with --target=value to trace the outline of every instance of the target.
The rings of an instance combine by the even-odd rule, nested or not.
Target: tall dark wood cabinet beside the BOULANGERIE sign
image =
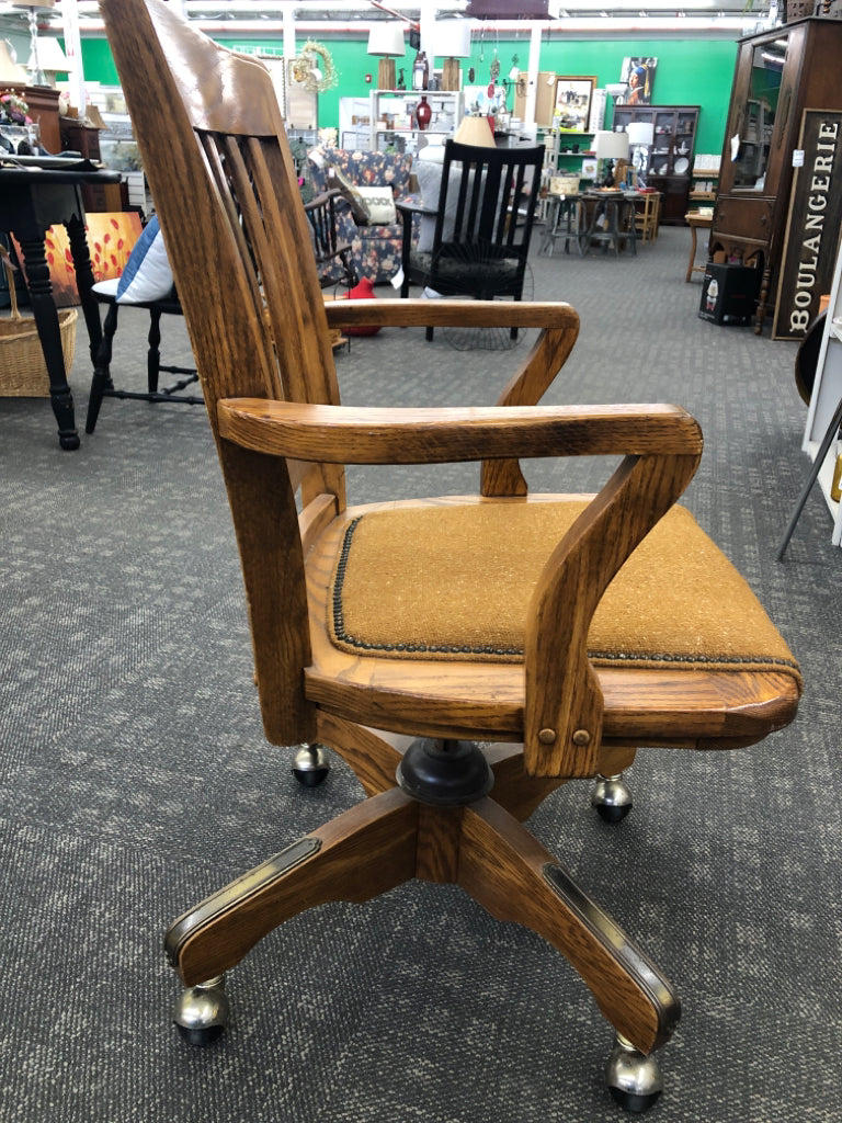
[[[762,271],[757,335],[778,289],[802,115],[842,109],[841,60],[842,20],[811,17],[740,39],[710,253]]]

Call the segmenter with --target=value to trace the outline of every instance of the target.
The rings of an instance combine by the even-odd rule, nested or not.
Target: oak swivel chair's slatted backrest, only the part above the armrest
[[[272,79],[175,7],[116,0],[103,15],[211,423],[216,431],[220,398],[337,403],[310,228]],[[214,247],[212,270],[196,248],[203,238]]]

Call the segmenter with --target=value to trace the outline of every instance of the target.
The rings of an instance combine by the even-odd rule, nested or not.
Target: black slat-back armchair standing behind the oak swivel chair
[[[438,203],[430,210],[399,201],[403,219],[401,296],[410,284],[442,296],[521,300],[527,275],[543,145],[536,148],[486,148],[445,141]],[[412,216],[422,222],[412,245]],[[516,338],[518,328],[511,328]],[[433,338],[433,328],[427,328]]]

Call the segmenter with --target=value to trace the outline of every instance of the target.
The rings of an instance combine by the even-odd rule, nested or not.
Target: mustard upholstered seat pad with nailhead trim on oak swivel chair
[[[536,582],[586,500],[378,511],[345,535],[328,604],[342,650],[516,663]],[[791,651],[684,508],[628,559],[594,617],[597,665],[784,669]]]

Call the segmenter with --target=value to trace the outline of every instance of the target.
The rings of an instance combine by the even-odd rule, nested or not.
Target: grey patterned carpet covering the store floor
[[[807,472],[795,348],[698,319],[689,231],[637,258],[534,256],[582,336],[549,402],[675,401],[706,453],[686,502],[802,660],[797,722],[724,755],[642,751],[634,811],[570,784],[530,828],[675,983],[661,1123],[840,1119],[842,597]],[[378,290],[386,296],[390,290]],[[125,311],[113,373],[144,380]],[[486,340],[491,343],[493,340]],[[186,358],[180,321],[167,357]],[[392,329],[337,356],[348,403],[492,403],[518,353]],[[72,375],[80,428],[90,368]],[[162,952],[189,905],[351,806],[262,736],[229,515],[201,408],[107,400],[75,453],[46,401],[0,400],[0,1121],[602,1123],[611,1031],[573,969],[451,887],[409,884],[287,923],[230,975],[213,1048],[170,1024]],[[600,462],[530,467],[592,486]],[[349,472],[353,500],[473,487],[472,466]]]

